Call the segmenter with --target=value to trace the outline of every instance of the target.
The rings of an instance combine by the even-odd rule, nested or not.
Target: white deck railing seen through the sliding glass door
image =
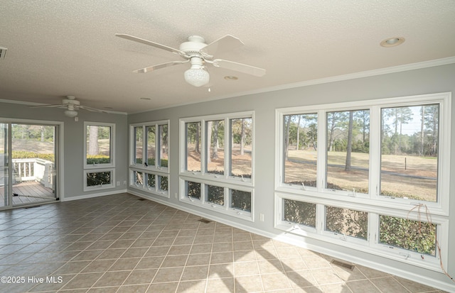
[[[48,160],[13,159],[14,177],[13,184],[23,181],[37,181],[44,187],[53,187],[54,163]]]

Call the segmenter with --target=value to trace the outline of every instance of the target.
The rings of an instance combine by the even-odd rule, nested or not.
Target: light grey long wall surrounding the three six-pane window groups
[[[199,90],[199,89],[195,89]],[[288,106],[307,106],[311,104],[329,104],[341,101],[363,101],[397,96],[412,96],[433,94],[438,92],[455,92],[455,65],[442,65],[419,70],[382,74],[372,77],[348,79],[338,82],[315,84],[306,87],[282,89],[274,92],[237,96],[229,99],[207,101],[200,104],[176,106],[169,109],[144,112],[128,116],[128,123],[158,121],[170,119],[170,179],[169,192],[171,197],[150,197],[137,189],[131,189],[135,194],[145,195],[161,202],[176,206],[186,211],[247,228],[253,232],[272,237],[284,237],[287,241],[318,249],[331,255],[343,256],[348,260],[385,270],[396,275],[407,277],[417,282],[425,282],[434,287],[455,292],[455,283],[445,275],[406,265],[402,262],[388,260],[368,253],[360,253],[346,247],[331,243],[316,241],[311,238],[283,235],[282,231],[274,228],[274,138],[275,138],[275,109]],[[191,116],[223,114],[237,111],[255,111],[255,221],[243,221],[213,211],[199,209],[183,204],[173,197],[178,192],[178,119]],[[455,114],[455,103],[452,103],[452,113]],[[451,119],[451,145],[455,145],[455,119]],[[454,148],[453,148],[454,149]],[[444,154],[441,155],[444,160]],[[451,170],[455,172],[455,151],[451,151]],[[455,247],[455,182],[450,186],[450,216],[448,247]],[[264,221],[258,221],[259,213],[264,214]],[[444,243],[445,244],[445,243]],[[449,274],[455,275],[455,251],[450,250],[448,263]]]

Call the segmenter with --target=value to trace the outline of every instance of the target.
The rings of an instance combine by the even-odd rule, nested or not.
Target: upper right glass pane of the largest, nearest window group
[[[380,194],[436,202],[438,150],[439,104],[382,108]]]

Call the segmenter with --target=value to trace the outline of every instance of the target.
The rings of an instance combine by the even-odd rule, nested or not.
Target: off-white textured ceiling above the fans
[[[73,95],[85,106],[135,113],[439,60],[455,56],[454,16],[453,0],[4,0],[0,99],[59,104]],[[215,57],[267,74],[211,67],[210,92],[184,81],[188,64],[135,74],[178,56],[115,33],[173,48],[188,35],[208,43],[235,35],[245,45]],[[379,45],[396,36],[405,43]]]

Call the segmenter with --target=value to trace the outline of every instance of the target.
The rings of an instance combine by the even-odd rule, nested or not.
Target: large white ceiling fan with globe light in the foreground
[[[144,40],[142,38],[137,38],[133,35],[125,35],[122,33],[116,33],[115,35],[119,38],[133,40],[134,42],[143,43],[145,45],[150,45],[161,50],[173,52],[174,54],[180,55],[180,57],[183,59],[134,70],[134,72],[137,73],[151,72],[154,70],[159,70],[161,68],[181,65],[183,63],[189,62],[191,64],[191,68],[186,70],[183,76],[185,77],[185,80],[188,82],[188,84],[191,84],[195,87],[202,87],[203,85],[208,84],[210,80],[210,74],[207,71],[206,65],[222,67],[228,70],[251,74],[256,77],[262,77],[265,74],[265,70],[259,67],[254,67],[251,65],[229,60],[214,59],[214,55],[217,52],[233,50],[244,45],[240,39],[235,38],[232,35],[225,35],[224,37],[219,38],[210,44],[206,44],[204,38],[200,37],[199,35],[191,35],[188,37],[187,42],[180,44],[180,47],[178,49],[171,48],[166,45],[161,45],[159,43],[154,43],[149,40]]]

